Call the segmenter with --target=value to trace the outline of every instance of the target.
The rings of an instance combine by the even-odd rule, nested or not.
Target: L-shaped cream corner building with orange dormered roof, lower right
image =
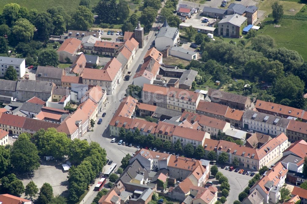
[[[215,145],[210,144],[211,150]],[[206,145],[206,142],[205,142]],[[208,146],[205,146],[205,152],[208,151]],[[222,152],[228,155],[227,163],[232,164],[235,157],[239,160],[239,166],[259,170],[262,166],[268,165],[278,157],[282,156],[282,152],[288,147],[288,138],[285,134],[280,134],[276,138],[262,145],[259,149],[237,145],[234,142],[220,140],[218,145],[214,147],[217,153],[217,159]]]

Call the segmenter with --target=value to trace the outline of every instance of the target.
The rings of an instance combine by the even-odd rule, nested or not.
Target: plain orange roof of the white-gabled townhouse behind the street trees
[[[190,140],[202,141],[205,137],[205,133],[206,132],[201,131],[201,130],[195,130],[195,129],[188,128],[188,127],[176,126],[173,132],[173,136],[187,138]]]

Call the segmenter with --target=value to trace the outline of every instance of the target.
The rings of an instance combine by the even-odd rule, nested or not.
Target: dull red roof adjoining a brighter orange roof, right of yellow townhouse
[[[200,100],[196,110],[225,116],[228,108],[228,106],[222,104]]]

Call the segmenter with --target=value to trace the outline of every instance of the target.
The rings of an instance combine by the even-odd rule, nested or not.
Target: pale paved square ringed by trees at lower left
[[[40,188],[44,183],[49,183],[53,189],[53,195],[64,195],[68,196],[67,191],[67,176],[68,171],[64,172],[61,164],[63,161],[42,161],[41,166],[30,174],[27,178],[21,178],[24,186],[26,186],[31,180]],[[63,193],[63,194],[62,194]],[[25,195],[22,195],[22,197]]]

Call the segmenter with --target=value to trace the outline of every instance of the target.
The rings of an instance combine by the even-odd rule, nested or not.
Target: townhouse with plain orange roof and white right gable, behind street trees
[[[191,143],[194,148],[198,145],[204,146],[204,142],[206,138],[210,138],[210,134],[208,132],[204,132],[201,130],[195,130],[188,127],[176,126],[173,131],[173,144],[179,140],[181,142],[182,148],[185,147],[187,143]]]

